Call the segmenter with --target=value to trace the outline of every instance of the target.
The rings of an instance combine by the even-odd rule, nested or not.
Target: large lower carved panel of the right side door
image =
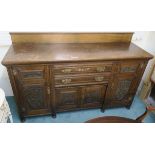
[[[136,92],[137,77],[134,75],[114,76],[108,86],[103,107],[127,106]]]

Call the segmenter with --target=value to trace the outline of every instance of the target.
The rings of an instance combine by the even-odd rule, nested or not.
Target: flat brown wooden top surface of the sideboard
[[[2,64],[151,59],[133,43],[14,43]]]

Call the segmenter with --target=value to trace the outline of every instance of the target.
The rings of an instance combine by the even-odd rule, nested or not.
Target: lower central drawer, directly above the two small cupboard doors
[[[110,79],[110,74],[95,74],[95,75],[83,75],[83,76],[56,76],[56,86],[68,86],[79,84],[91,84],[91,83],[107,83]]]

